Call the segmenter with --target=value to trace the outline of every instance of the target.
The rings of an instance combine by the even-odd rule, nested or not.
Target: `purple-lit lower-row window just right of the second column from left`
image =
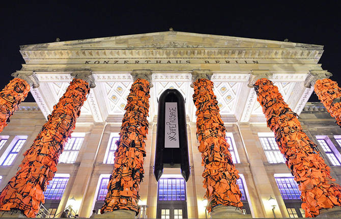
[[[44,193],[46,200],[61,200],[69,177],[54,177]]]

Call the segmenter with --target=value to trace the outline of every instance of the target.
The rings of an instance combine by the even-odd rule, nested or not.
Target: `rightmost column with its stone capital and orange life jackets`
[[[341,88],[337,82],[329,79],[332,74],[325,70],[310,70],[305,80],[305,86],[314,86],[319,100],[326,107],[328,113],[335,118],[341,127]]]

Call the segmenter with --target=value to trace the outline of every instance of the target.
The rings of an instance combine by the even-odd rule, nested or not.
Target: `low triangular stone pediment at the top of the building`
[[[117,37],[73,40],[21,46],[30,49],[96,49],[96,48],[307,48],[323,46],[293,42],[250,39],[242,37],[195,34],[185,32],[158,32]]]

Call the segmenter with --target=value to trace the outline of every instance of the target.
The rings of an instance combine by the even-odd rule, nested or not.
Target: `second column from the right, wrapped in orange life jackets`
[[[275,133],[278,147],[301,190],[305,216],[317,216],[320,210],[341,206],[341,186],[330,182],[333,180],[330,168],[317,146],[303,132],[297,115],[284,102],[277,87],[272,81],[261,78],[254,89],[268,127]]]

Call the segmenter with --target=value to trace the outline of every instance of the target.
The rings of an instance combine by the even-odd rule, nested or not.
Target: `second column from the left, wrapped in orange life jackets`
[[[81,75],[72,80],[33,145],[23,154],[19,171],[0,195],[1,211],[18,209],[27,217],[35,217],[40,204],[44,203],[43,192],[56,172],[59,155],[90,91],[89,82],[79,77]]]

